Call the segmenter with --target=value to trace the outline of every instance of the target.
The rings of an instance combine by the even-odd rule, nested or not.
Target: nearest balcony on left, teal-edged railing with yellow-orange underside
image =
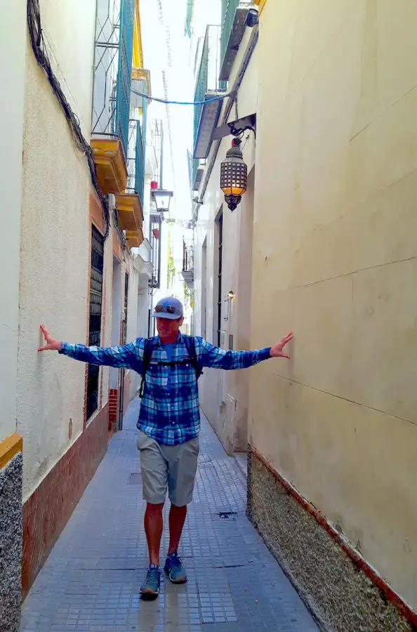
[[[95,56],[91,146],[103,193],[126,187],[126,156],[131,99],[135,0],[99,1]]]

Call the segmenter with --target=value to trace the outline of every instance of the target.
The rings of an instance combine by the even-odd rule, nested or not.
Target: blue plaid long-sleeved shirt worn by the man
[[[195,339],[200,367],[246,369],[270,357],[270,347],[258,351],[225,351],[204,338]],[[177,445],[196,437],[200,430],[199,392],[195,371],[190,364],[173,367],[158,364],[168,358],[159,336],[152,338],[152,360],[147,370],[145,390],[138,419],[138,429],[164,445]],[[100,348],[62,343],[60,353],[89,364],[119,369],[133,369],[142,374],[145,338],[120,347]],[[189,357],[183,335],[173,345],[171,362]],[[168,388],[171,371],[171,388]]]

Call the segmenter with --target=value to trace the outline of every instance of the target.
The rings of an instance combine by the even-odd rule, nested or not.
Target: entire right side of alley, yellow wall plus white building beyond
[[[216,138],[229,101],[214,125],[209,106],[196,114],[194,157],[206,162],[194,168],[194,328],[225,348],[262,348],[293,330],[292,359],[243,377],[205,371],[201,402],[230,452],[249,443],[249,516],[324,628],[411,631],[413,3],[258,8],[226,86],[244,71],[228,121],[256,114],[256,140],[246,131],[242,142],[248,192],[233,212],[219,173],[231,137]],[[234,13],[230,37],[238,32]]]

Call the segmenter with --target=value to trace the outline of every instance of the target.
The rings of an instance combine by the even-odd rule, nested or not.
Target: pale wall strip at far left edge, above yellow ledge
[[[18,377],[18,308],[20,270],[20,207],[22,200],[22,136],[26,54],[26,2],[6,0],[2,6],[7,28],[0,39],[1,86],[7,98],[0,100],[4,121],[0,155],[0,441],[16,430]],[[13,51],[13,55],[11,55]],[[7,271],[7,273],[5,273]]]

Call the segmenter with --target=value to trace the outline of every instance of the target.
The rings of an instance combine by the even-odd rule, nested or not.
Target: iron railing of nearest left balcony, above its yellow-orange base
[[[91,133],[119,137],[128,152],[135,0],[98,2]]]

